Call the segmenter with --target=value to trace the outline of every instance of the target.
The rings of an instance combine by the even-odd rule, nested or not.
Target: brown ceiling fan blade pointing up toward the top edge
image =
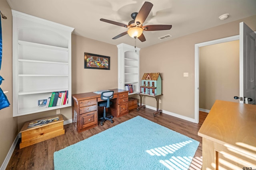
[[[144,2],[144,4],[140,8],[140,11],[138,12],[138,14],[135,18],[135,24],[137,26],[140,26],[140,25],[142,25],[142,23],[144,23],[144,21],[148,17],[148,14],[150,13],[152,7],[153,7],[152,3]]]

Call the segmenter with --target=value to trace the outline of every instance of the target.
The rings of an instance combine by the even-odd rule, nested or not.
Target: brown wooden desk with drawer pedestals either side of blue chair
[[[114,117],[128,114],[128,91],[112,90],[114,97],[111,99],[113,104],[109,108],[110,113]],[[72,95],[72,118],[78,132],[98,126],[98,111],[102,111],[97,105],[97,102],[102,101],[100,95],[94,92]]]

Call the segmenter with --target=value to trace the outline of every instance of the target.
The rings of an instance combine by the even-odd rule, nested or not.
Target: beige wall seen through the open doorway
[[[199,48],[199,108],[215,100],[239,102],[239,40]]]

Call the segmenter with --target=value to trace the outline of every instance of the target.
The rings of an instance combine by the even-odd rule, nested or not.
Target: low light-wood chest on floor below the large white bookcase
[[[38,125],[38,126],[28,128],[30,124],[33,124],[40,120],[55,119],[55,118],[57,118],[58,120],[52,121],[44,125]],[[33,121],[28,121],[24,123],[22,129],[20,130],[20,133],[21,133],[20,149],[45,141],[47,139],[51,139],[53,137],[65,134],[63,122],[64,120],[62,115],[57,115],[57,116],[46,117],[46,118],[37,119]]]

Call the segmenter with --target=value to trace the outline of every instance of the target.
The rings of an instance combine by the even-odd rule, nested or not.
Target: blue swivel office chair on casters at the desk
[[[113,123],[112,121],[113,116],[112,115],[106,116],[106,108],[110,107],[110,105],[112,104],[110,99],[112,99],[113,96],[114,96],[114,91],[105,91],[101,93],[100,98],[101,100],[104,100],[104,101],[98,102],[98,106],[104,107],[104,111],[103,111],[103,117],[100,118],[100,120],[102,120],[100,121],[100,125],[103,125],[102,123],[105,120],[110,120],[110,122]]]

